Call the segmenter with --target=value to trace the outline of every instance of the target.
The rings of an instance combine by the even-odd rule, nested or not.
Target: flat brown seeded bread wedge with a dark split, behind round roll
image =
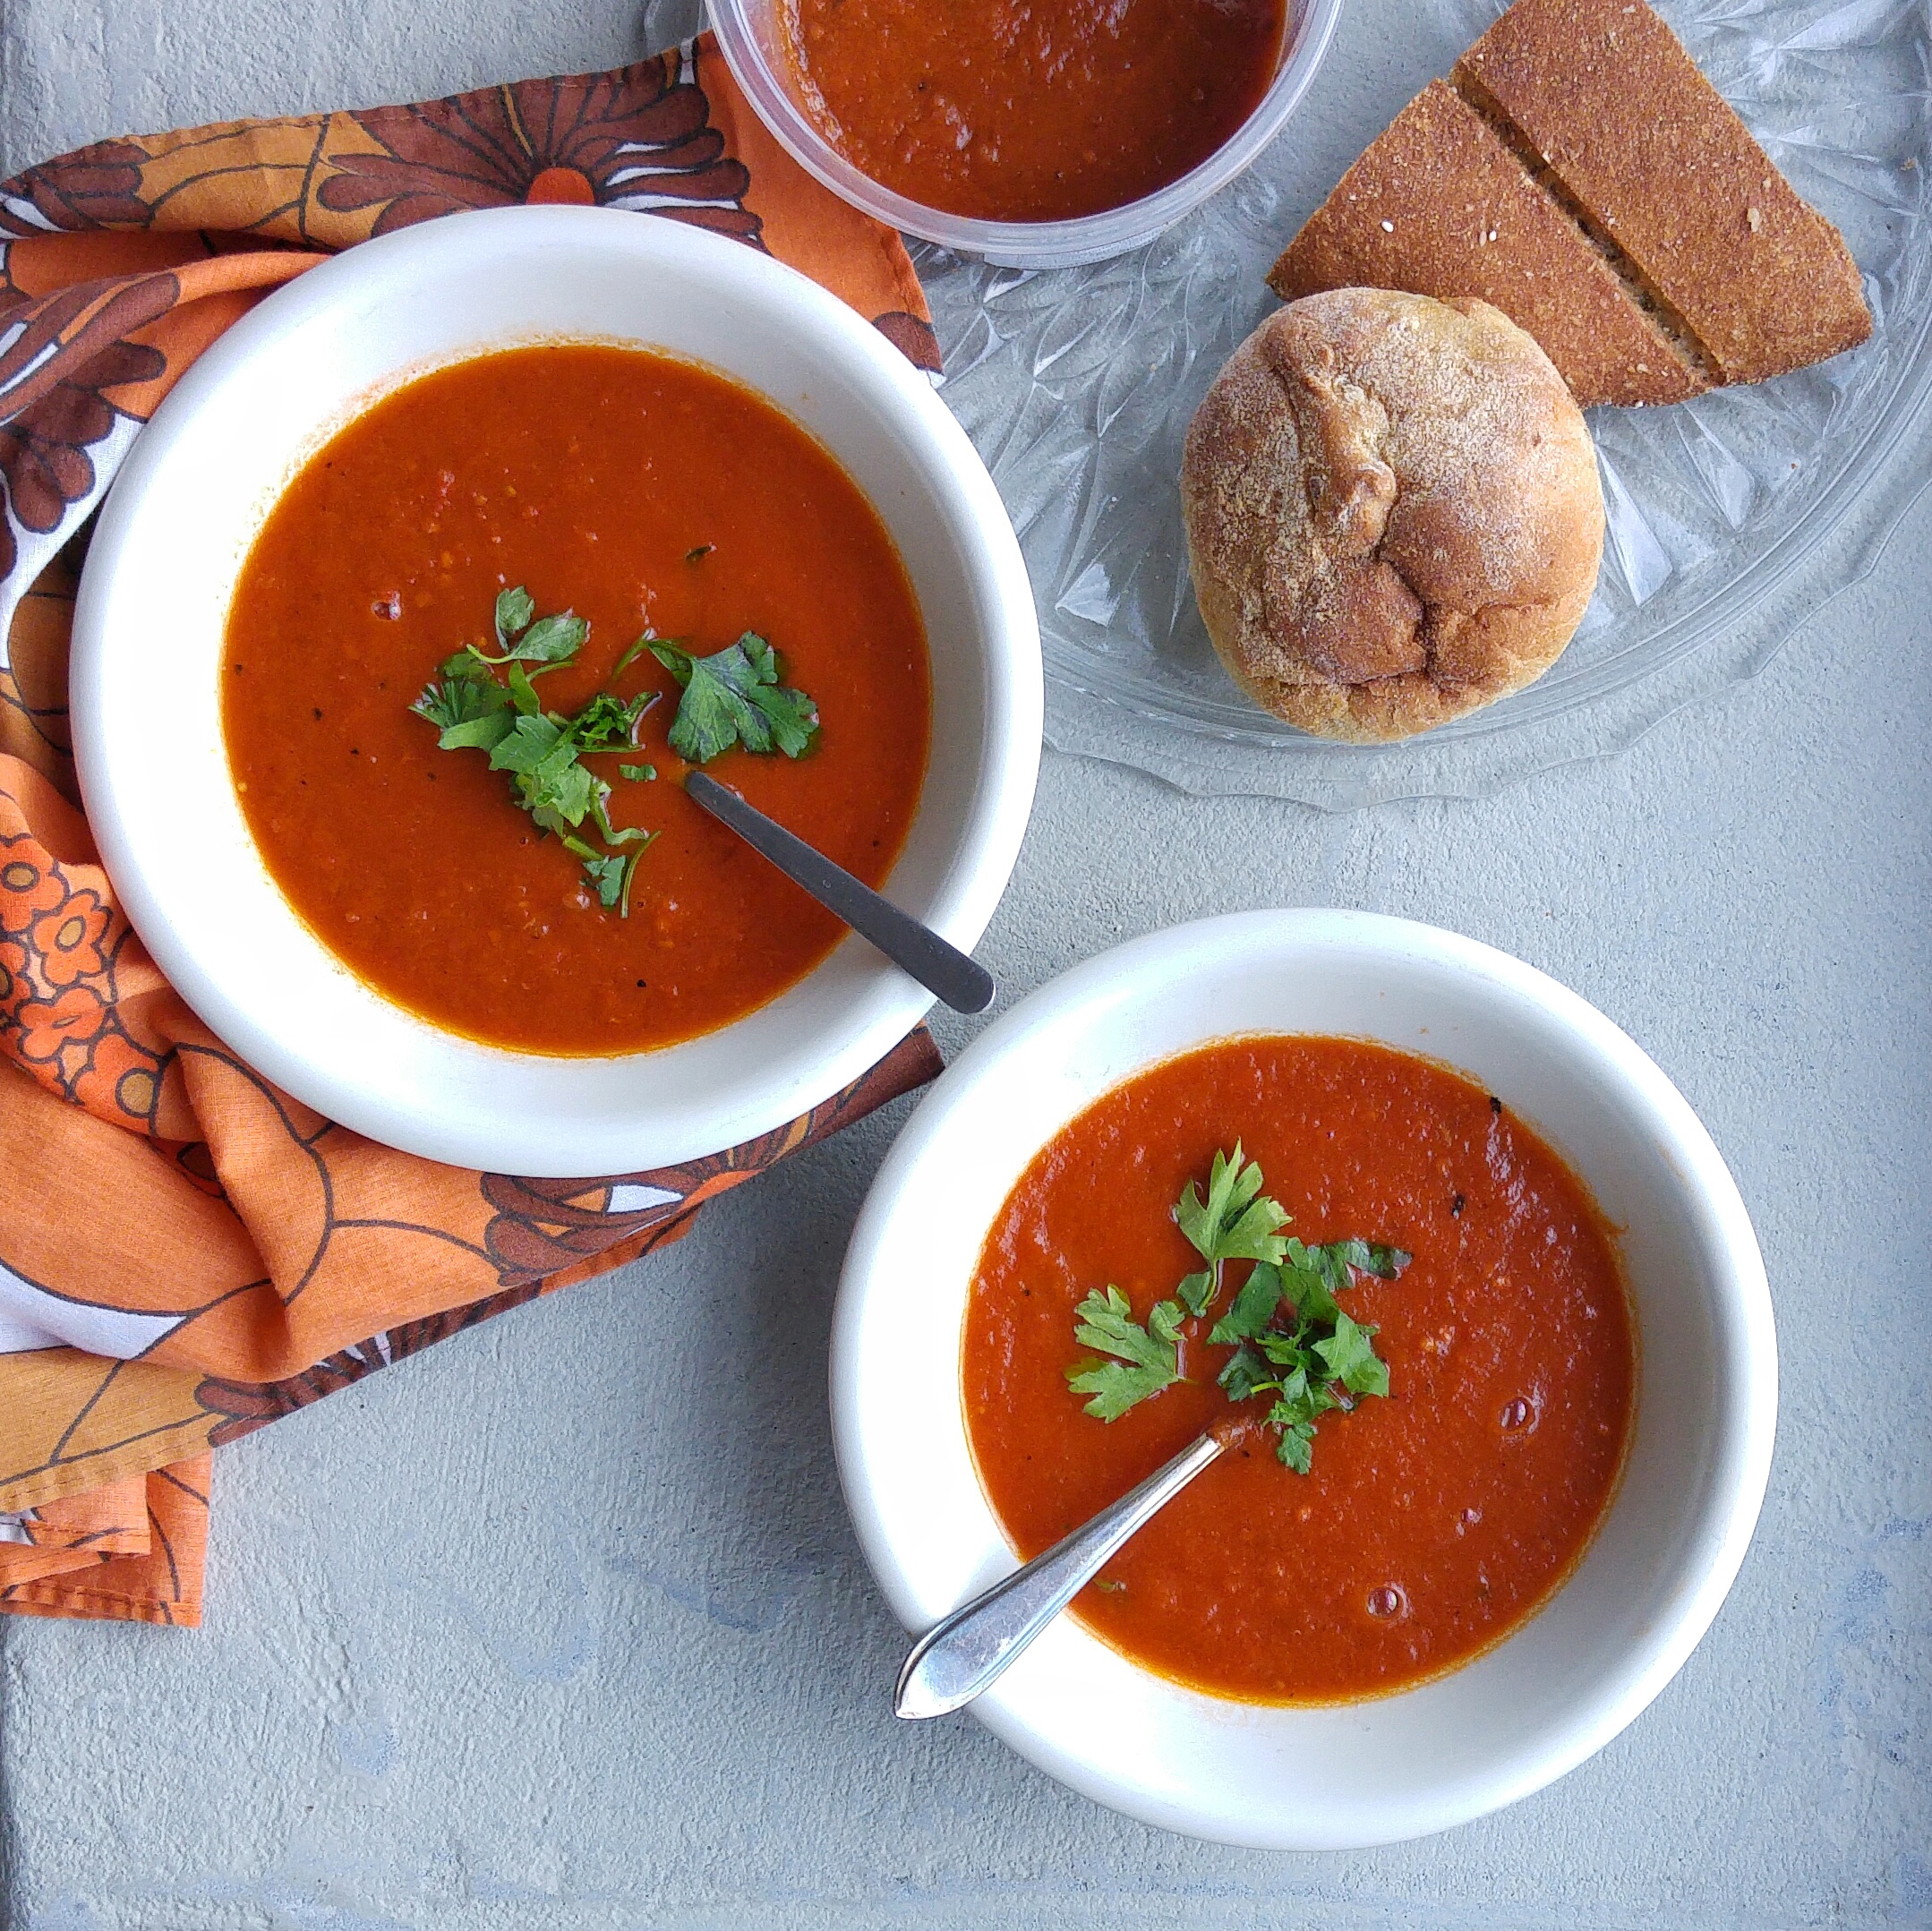
[[[1586,407],[1756,382],[1872,326],[1837,230],[1644,0],[1517,0],[1349,170],[1269,284],[1482,295]]]

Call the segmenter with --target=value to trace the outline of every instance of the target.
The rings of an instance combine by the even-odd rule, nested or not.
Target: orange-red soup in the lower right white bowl
[[[1482,1087],[1349,1039],[1238,1039],[1140,1074],[1034,1161],[987,1236],[964,1338],[980,1479],[1022,1556],[1233,1413],[1206,1332],[1190,1377],[1121,1419],[1084,1413],[1074,1303],[1109,1282],[1146,1321],[1200,1265],[1173,1222],[1240,1139],[1308,1242],[1406,1247],[1343,1296],[1376,1323],[1391,1392],[1327,1413],[1296,1475],[1262,1435],[1215,1462],[1074,1612],[1202,1690],[1300,1703],[1379,1695],[1466,1661],[1563,1581],[1623,1466],[1631,1319],[1584,1186]],[[1244,1410],[1246,1412],[1246,1410]],[[1265,1413],[1265,1400],[1254,1404]]]

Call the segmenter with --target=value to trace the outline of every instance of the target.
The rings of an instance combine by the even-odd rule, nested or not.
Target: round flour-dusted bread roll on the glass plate
[[[1325,738],[1408,738],[1530,684],[1604,554],[1577,404],[1474,299],[1343,288],[1279,309],[1196,411],[1180,500],[1221,660]]]

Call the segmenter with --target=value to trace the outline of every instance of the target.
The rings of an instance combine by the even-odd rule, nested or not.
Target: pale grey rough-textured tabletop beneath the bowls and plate
[[[0,172],[645,33],[512,0],[0,0]],[[1196,803],[1049,755],[983,952],[1026,989],[1175,919],[1368,906],[1532,960],[1679,1081],[1764,1242],[1779,1444],[1729,1605],[1600,1757],[1441,1838],[1262,1856],[1124,1823],[970,1721],[896,1726],[823,1371],[898,1106],[668,1255],[224,1452],[199,1634],[0,1628],[0,1923],[1932,1925],[1928,548],[1932,500],[1762,676],[1484,803]]]

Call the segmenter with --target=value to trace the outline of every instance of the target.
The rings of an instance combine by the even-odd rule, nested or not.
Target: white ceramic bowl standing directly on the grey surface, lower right
[[[833,1327],[838,1469],[908,1630],[1016,1560],[960,1408],[966,1290],[989,1222],[1092,1099],[1238,1033],[1343,1033],[1447,1060],[1573,1162],[1623,1228],[1638,1327],[1623,1483],[1544,1610],[1420,1688],[1325,1709],[1242,1705],[1153,1676],[1063,1616],[974,1711],[1043,1771],[1171,1831],[1269,1850],[1385,1844],[1561,1777],[1689,1657],[1764,1498],[1777,1413],[1770,1292],[1737,1188],[1689,1105],[1540,971],[1350,911],[1254,911],[1134,940],[1032,994],[949,1068],[852,1236]]]

